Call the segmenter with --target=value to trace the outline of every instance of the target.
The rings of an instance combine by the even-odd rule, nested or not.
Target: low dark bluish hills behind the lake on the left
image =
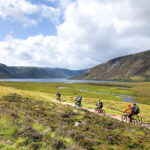
[[[84,73],[85,70],[62,68],[10,67],[0,64],[0,78],[71,78]]]

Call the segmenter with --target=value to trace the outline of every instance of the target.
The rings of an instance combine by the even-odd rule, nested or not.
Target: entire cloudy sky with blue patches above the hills
[[[0,63],[85,69],[150,49],[149,0],[0,0]]]

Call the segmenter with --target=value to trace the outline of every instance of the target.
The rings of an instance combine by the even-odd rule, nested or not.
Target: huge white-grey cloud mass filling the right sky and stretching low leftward
[[[40,34],[25,40],[7,37],[0,42],[1,62],[81,69],[150,47],[147,0],[70,0],[64,5],[58,0],[58,3],[61,8],[40,6],[45,18],[55,18],[63,10],[64,22],[60,23],[56,17],[57,35]],[[37,7],[33,9],[36,11]]]

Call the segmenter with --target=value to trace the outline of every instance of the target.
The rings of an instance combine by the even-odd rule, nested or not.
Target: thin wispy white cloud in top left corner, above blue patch
[[[59,15],[58,8],[45,4],[32,4],[27,0],[1,0],[0,2],[0,18],[17,21],[24,27],[36,26],[43,18],[58,23]]]

